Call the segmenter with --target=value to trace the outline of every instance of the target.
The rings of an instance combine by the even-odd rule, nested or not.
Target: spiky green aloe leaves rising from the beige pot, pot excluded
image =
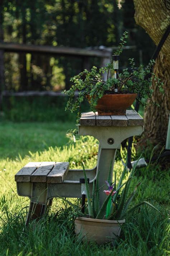
[[[137,165],[137,163],[136,163]],[[131,170],[131,173],[129,174],[129,177],[126,182],[123,183],[123,179],[126,175],[126,167],[124,167],[124,170],[122,172],[121,178],[117,182],[116,180],[116,173],[114,172],[114,183],[111,181],[112,177],[112,163],[110,163],[110,170],[108,175],[108,181],[106,181],[108,185],[108,189],[104,190],[104,193],[107,194],[107,197],[103,203],[103,205],[99,208],[99,190],[102,189],[99,188],[98,185],[98,175],[96,177],[96,180],[93,181],[93,192],[92,196],[90,195],[90,189],[88,180],[86,177],[86,171],[84,169],[84,165],[82,163],[83,171],[84,171],[84,177],[85,177],[85,185],[86,185],[86,196],[88,201],[88,212],[90,218],[94,219],[107,219],[107,220],[121,220],[123,219],[126,214],[133,212],[136,210],[136,208],[140,207],[143,204],[146,204],[157,212],[161,214],[161,212],[151,205],[149,202],[143,201],[138,203],[137,205],[129,208],[136,192],[137,188],[139,187],[140,183],[136,185],[133,192],[129,195],[129,188],[131,185],[131,181],[134,175],[134,171],[136,169],[136,165]],[[118,183],[118,184],[117,184]]]

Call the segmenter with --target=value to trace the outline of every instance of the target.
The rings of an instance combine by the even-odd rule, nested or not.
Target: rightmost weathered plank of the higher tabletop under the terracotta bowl
[[[128,126],[143,126],[143,118],[135,110],[127,110]]]

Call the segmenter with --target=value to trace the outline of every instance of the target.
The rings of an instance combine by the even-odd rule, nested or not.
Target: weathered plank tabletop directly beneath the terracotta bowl
[[[143,126],[143,118],[135,110],[127,110],[126,115],[98,116],[98,112],[81,114],[80,125],[85,126]]]

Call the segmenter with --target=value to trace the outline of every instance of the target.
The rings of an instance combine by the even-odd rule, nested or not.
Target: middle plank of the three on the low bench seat
[[[39,168],[31,175],[32,182],[46,182],[47,175],[53,169],[56,162],[42,162]]]

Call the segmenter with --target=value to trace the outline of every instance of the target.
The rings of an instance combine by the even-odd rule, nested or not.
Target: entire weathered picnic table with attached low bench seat
[[[127,110],[123,116],[98,116],[98,113],[82,113],[78,126],[79,135],[90,135],[99,141],[96,167],[86,170],[90,179],[90,191],[93,181],[99,177],[99,187],[103,187],[108,178],[110,163],[112,168],[117,149],[121,142],[143,132],[143,118],[133,110]],[[51,204],[53,197],[81,197],[80,178],[83,170],[69,170],[68,162],[30,162],[16,175],[17,192],[30,198],[30,208],[26,223],[30,219],[41,217]],[[103,189],[107,189],[104,185]],[[100,205],[105,200],[105,193],[100,190]]]

